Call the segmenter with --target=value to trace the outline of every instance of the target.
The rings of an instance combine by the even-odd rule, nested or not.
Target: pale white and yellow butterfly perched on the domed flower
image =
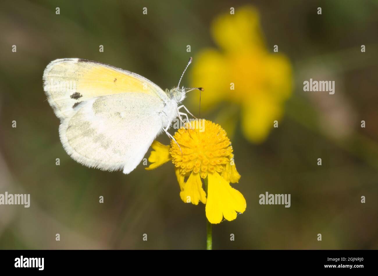
[[[65,151],[85,166],[130,173],[157,135],[165,132],[174,140],[168,129],[175,118],[182,122],[184,115],[189,121],[187,113],[192,113],[180,104],[187,92],[203,91],[180,88],[191,61],[177,87],[165,91],[141,75],[97,61],[51,61],[43,72],[43,89],[60,119]]]

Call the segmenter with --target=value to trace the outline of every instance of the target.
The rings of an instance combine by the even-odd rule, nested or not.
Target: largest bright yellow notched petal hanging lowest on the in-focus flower
[[[228,221],[236,218],[237,213],[243,213],[246,208],[244,196],[230,186],[217,172],[208,174],[208,201],[206,203],[206,218],[216,224],[223,216]]]

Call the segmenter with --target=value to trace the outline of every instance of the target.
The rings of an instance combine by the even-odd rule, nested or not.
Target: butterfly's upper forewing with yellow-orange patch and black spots
[[[43,73],[44,90],[56,116],[69,117],[77,104],[91,98],[126,92],[167,95],[146,78],[97,61],[64,58],[51,61]]]

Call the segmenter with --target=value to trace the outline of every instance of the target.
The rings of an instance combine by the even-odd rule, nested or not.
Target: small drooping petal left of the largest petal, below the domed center
[[[206,204],[206,193],[202,189],[202,181],[199,173],[191,173],[184,184],[184,190],[180,192],[181,200],[186,203],[198,205],[198,202]]]

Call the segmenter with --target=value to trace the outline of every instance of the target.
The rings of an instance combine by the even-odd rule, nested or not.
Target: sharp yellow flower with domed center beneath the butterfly
[[[206,217],[213,224],[220,223],[223,217],[232,221],[237,212],[245,211],[246,202],[243,195],[229,184],[240,179],[231,142],[218,124],[207,120],[202,123],[201,128],[198,121],[186,123],[185,128],[174,135],[177,144],[171,140],[170,146],[164,146],[154,141],[154,150],[149,157],[153,163],[146,169],[155,169],[172,160],[181,200],[195,205],[200,201],[206,204]],[[208,183],[207,198],[201,178]]]

